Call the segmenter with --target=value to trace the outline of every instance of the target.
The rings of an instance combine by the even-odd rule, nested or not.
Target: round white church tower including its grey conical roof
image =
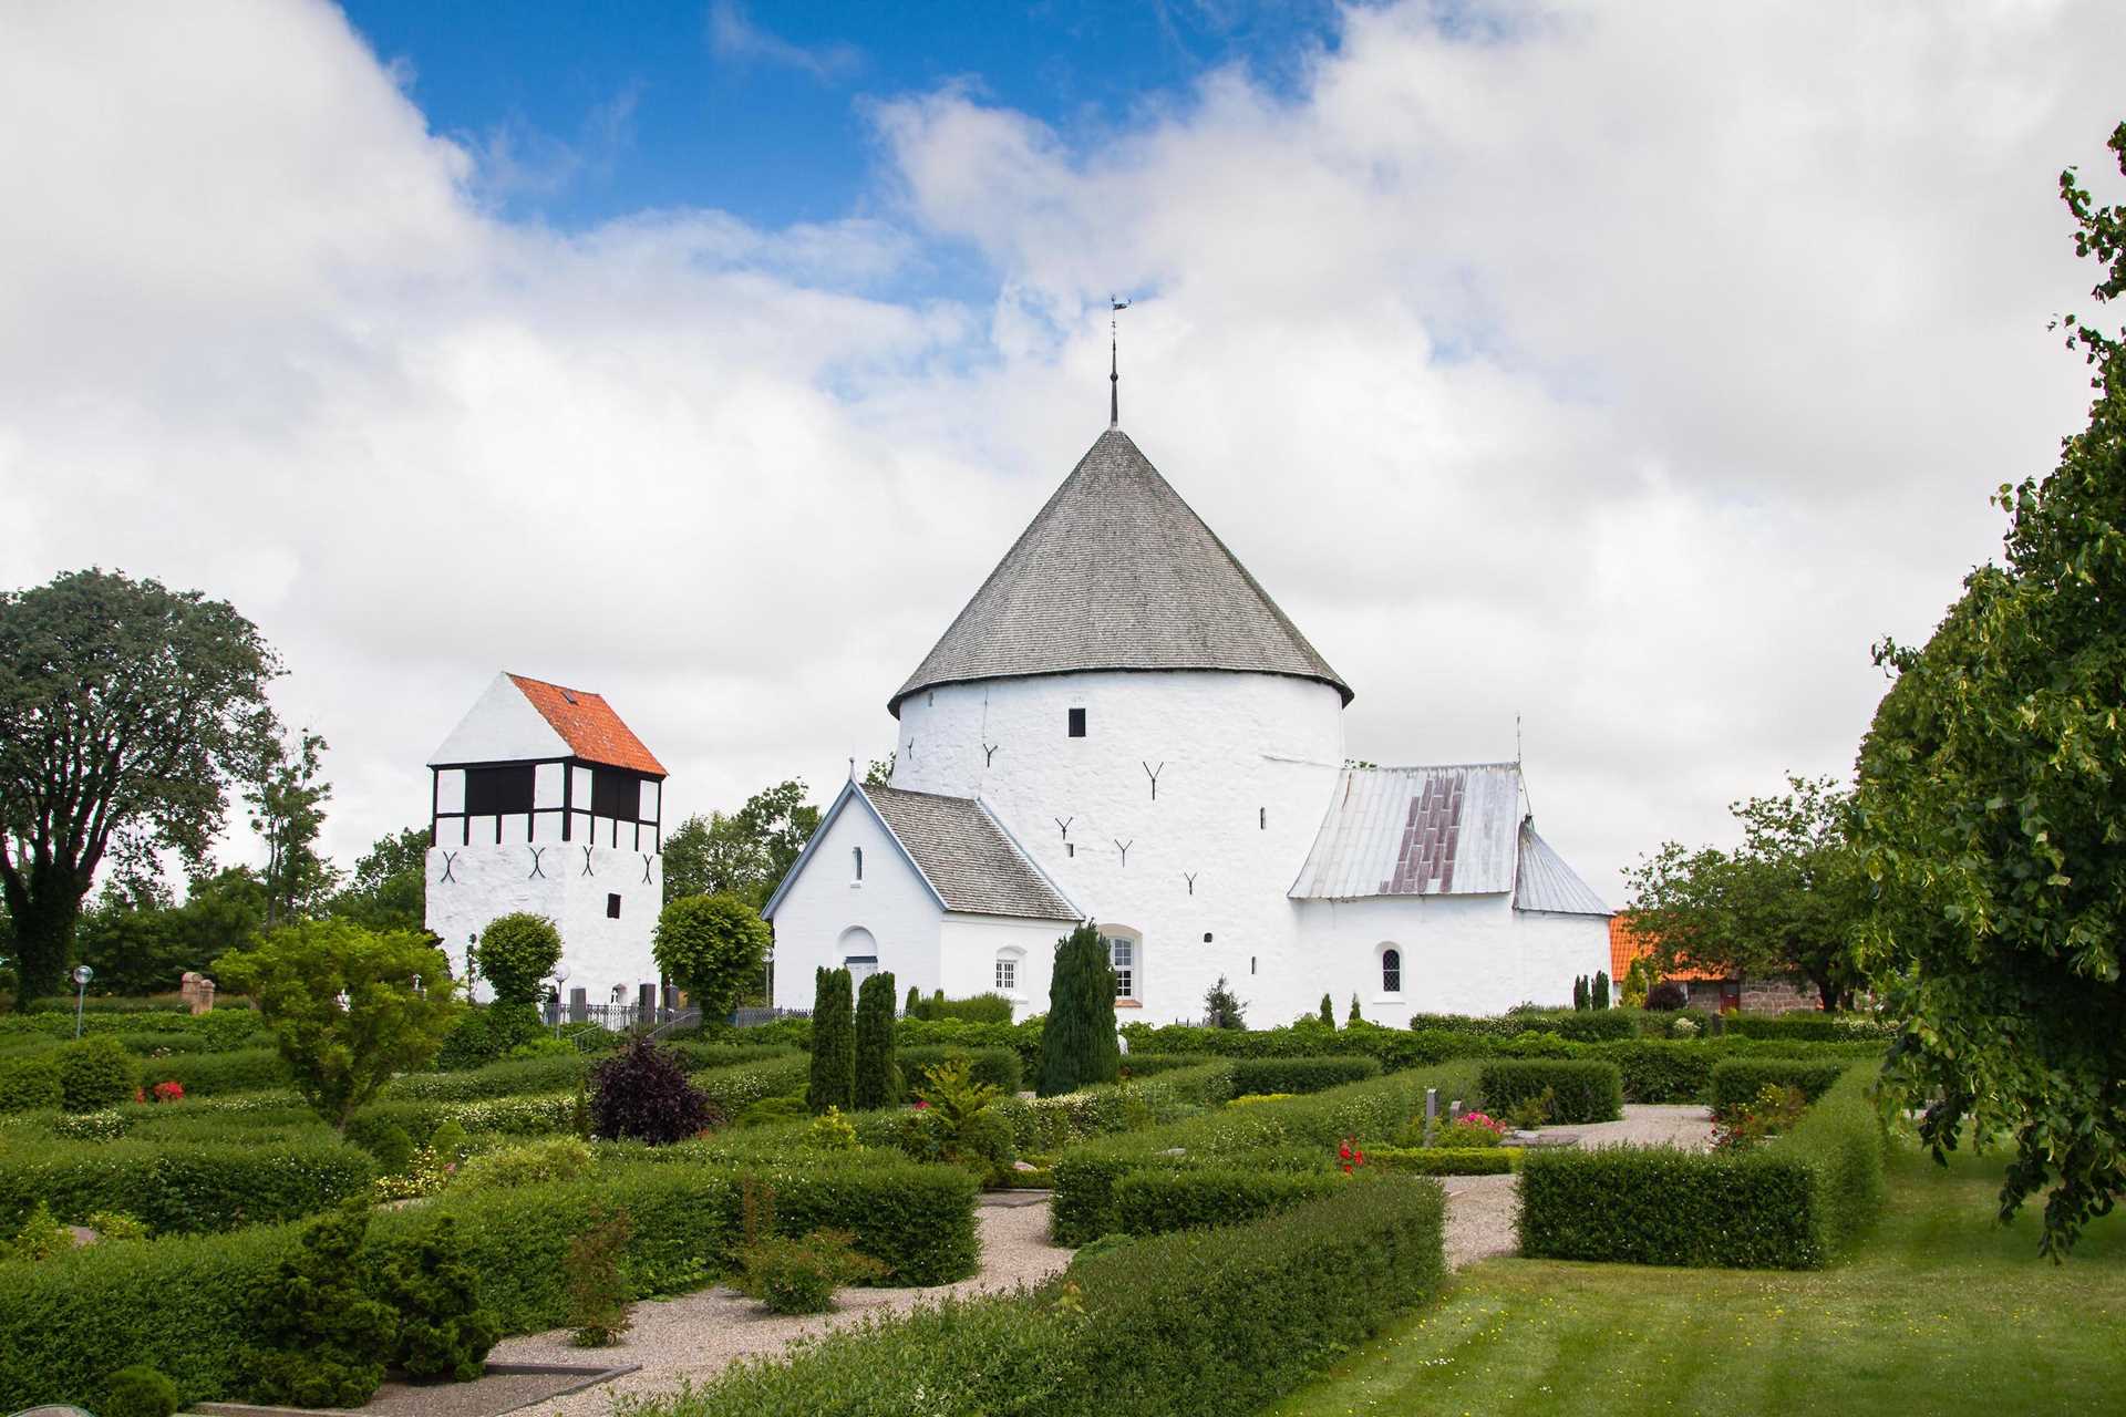
[[[1125,1022],[1197,1018],[1301,964],[1350,697],[1110,427],[889,701],[893,786],[1003,822],[1110,937]]]

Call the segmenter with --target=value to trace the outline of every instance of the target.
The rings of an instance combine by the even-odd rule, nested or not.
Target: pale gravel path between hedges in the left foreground
[[[974,1279],[931,1290],[844,1290],[840,1309],[821,1315],[763,1313],[757,1302],[727,1290],[699,1290],[665,1300],[636,1304],[636,1326],[610,1349],[578,1349],[568,1330],[557,1328],[523,1338],[504,1338],[491,1353],[493,1362],[540,1364],[610,1360],[642,1364],[638,1372],[591,1387],[568,1398],[525,1409],[527,1417],[606,1417],[621,1394],[655,1394],[678,1387],[680,1379],[695,1383],[716,1377],[733,1358],[774,1353],[793,1338],[827,1332],[867,1313],[910,1309],[921,1298],[942,1294],[980,1294],[1040,1281],[1069,1264],[1072,1251],[1048,1243],[1046,1192],[1006,1192],[984,1198],[976,1211],[982,1232],[982,1270]]]

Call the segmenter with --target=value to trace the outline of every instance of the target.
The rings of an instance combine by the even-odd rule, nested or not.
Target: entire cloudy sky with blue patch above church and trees
[[[1120,291],[1123,425],[1348,750],[1518,716],[1620,901],[1850,769],[2081,419],[2113,0],[923,8],[6,6],[0,582],[232,599],[342,860],[502,667],[678,809],[825,795],[1101,431]]]

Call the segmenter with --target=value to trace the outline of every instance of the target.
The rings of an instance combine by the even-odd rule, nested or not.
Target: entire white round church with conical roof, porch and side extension
[[[1048,1007],[1095,920],[1123,1022],[1256,1026],[1565,1003],[1609,911],[1522,812],[1520,767],[1356,767],[1352,690],[1110,425],[887,703],[893,786],[850,782],[770,899],[776,1003],[812,969]]]

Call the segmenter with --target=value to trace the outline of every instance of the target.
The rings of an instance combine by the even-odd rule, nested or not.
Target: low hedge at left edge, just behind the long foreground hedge
[[[276,1224],[359,1194],[376,1166],[338,1139],[310,1141],[51,1141],[0,1156],[0,1228],[38,1200],[62,1222],[119,1211],[157,1234]]]

